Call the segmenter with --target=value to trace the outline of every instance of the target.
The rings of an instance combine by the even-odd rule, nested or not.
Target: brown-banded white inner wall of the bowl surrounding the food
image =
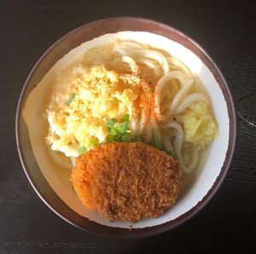
[[[115,32],[119,32],[118,35],[108,34]],[[101,37],[96,38],[98,36]],[[204,154],[198,170],[190,177],[190,184],[178,199],[177,204],[172,210],[167,211],[159,218],[135,223],[133,228],[140,229],[131,231],[133,234],[138,235],[155,234],[158,231],[175,227],[201,209],[202,205],[212,196],[212,193],[223,180],[227,166],[230,163],[230,155],[233,153],[235,141],[232,138],[230,139],[230,136],[235,136],[236,130],[234,126],[236,126],[236,119],[234,118],[234,108],[232,107],[230,93],[224,83],[224,78],[205,52],[182,33],[152,20],[117,18],[100,20],[82,26],[78,30],[67,34],[66,37],[61,38],[38,61],[38,64],[27,78],[26,85],[20,96],[16,123],[20,159],[26,170],[26,175],[38,194],[44,199],[44,202],[68,222],[72,222],[79,228],[100,234],[104,234],[105,230],[111,230],[112,233],[114,232],[113,234],[117,234],[117,231],[127,234],[124,233],[127,231],[124,228],[130,228],[130,223],[108,222],[108,220],[98,216],[96,212],[88,211],[81,205],[73,189],[70,188],[70,182],[68,182],[70,172],[52,168],[47,159],[44,138],[38,138],[39,136],[42,137],[42,132],[44,132],[41,130],[42,128],[40,129],[40,126],[43,126],[44,123],[38,124],[40,123],[40,119],[38,119],[40,100],[43,100],[41,95],[44,89],[40,90],[38,87],[46,87],[50,78],[54,76],[55,70],[73,61],[83,50],[90,49],[98,43],[108,43],[115,36],[132,38],[142,43],[150,42],[152,46],[165,49],[189,66],[189,69],[195,72],[206,86],[211,96],[213,112],[218,122],[218,137]],[[96,39],[90,41],[92,38]],[[84,43],[88,41],[90,42]],[[76,48],[77,46],[79,47]],[[71,49],[73,50],[69,52]],[[69,53],[67,54],[67,52]],[[61,59],[63,55],[65,57]],[[48,73],[44,77],[46,72]],[[43,77],[44,79],[42,80]],[[36,96],[32,96],[33,99],[30,100],[32,131],[28,133],[26,124],[20,118],[20,109],[24,107],[27,96],[38,83],[38,90],[33,90],[33,93],[36,91],[38,95],[34,93]],[[38,166],[41,170],[39,170]]]

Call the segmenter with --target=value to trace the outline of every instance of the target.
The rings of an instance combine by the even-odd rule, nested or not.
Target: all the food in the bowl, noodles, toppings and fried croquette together
[[[183,187],[177,165],[165,166],[166,156],[154,158],[151,153],[160,154],[156,149],[119,142],[143,141],[164,150],[188,174],[218,132],[199,78],[148,44],[116,40],[89,49],[81,61],[60,70],[50,89],[48,145],[75,165],[73,185],[83,204],[111,220],[160,216]],[[96,149],[112,142],[118,143]],[[127,150],[127,158],[115,150]],[[82,153],[88,156],[79,158]],[[133,164],[127,168],[130,160]]]

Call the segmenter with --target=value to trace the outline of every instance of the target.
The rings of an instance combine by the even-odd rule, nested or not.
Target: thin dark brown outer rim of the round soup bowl
[[[204,59],[201,59],[201,61],[203,61],[207,65],[209,70],[212,72],[214,78],[216,78],[216,80],[218,81],[218,85],[224,94],[224,98],[227,103],[228,113],[229,113],[229,118],[230,118],[229,146],[228,146],[228,150],[227,150],[226,157],[224,160],[224,165],[222,166],[220,174],[218,175],[217,179],[215,180],[214,184],[212,185],[212,188],[210,188],[210,190],[207,192],[207,194],[204,196],[204,198],[201,199],[201,201],[198,202],[198,204],[195,205],[192,209],[185,212],[182,216],[178,216],[176,219],[174,219],[170,222],[165,222],[163,224],[156,225],[153,227],[147,227],[147,228],[133,228],[131,231],[126,228],[111,228],[108,226],[104,226],[104,225],[98,224],[96,222],[91,222],[89,219],[83,217],[84,221],[87,221],[87,224],[90,225],[90,227],[85,228],[83,225],[79,225],[78,222],[75,222],[71,217],[67,217],[67,215],[66,216],[63,215],[61,213],[61,211],[58,211],[54,207],[54,205],[49,204],[47,197],[44,197],[44,193],[41,193],[39,191],[37,183],[33,181],[29,170],[26,168],[26,161],[24,159],[23,152],[20,148],[20,111],[21,111],[22,103],[24,101],[24,95],[26,92],[26,88],[30,82],[30,79],[32,78],[32,75],[34,74],[34,72],[37,71],[38,67],[40,66],[41,61],[43,61],[43,59],[45,57],[47,57],[47,55],[49,55],[49,52],[52,49],[55,49],[55,47],[59,43],[61,43],[61,41],[70,37],[73,33],[79,32],[80,30],[83,30],[84,28],[86,28],[88,26],[95,26],[96,24],[99,24],[102,22],[109,22],[109,21],[114,22],[117,20],[123,20],[123,21],[133,20],[133,21],[137,21],[137,22],[150,23],[150,24],[154,24],[156,26],[160,26],[161,28],[164,28],[167,31],[175,32],[180,38],[183,39],[182,42],[178,42],[178,43],[183,44],[185,47],[186,47],[185,44],[189,43],[189,45],[191,47],[194,47],[194,49],[199,50],[201,52],[202,56],[205,57]],[[194,50],[193,50],[193,52],[194,52]],[[172,26],[168,26],[168,25],[161,23],[159,21],[156,21],[156,20],[149,20],[149,19],[145,19],[145,18],[130,17],[130,16],[113,17],[113,18],[107,18],[107,19],[102,19],[102,20],[96,20],[96,21],[87,23],[84,26],[79,26],[78,28],[74,29],[72,32],[68,32],[66,35],[64,35],[59,40],[57,40],[55,43],[53,43],[49,47],[49,49],[47,49],[44,52],[44,54],[39,58],[37,63],[33,66],[32,71],[29,73],[28,77],[26,78],[26,82],[25,82],[23,89],[20,93],[20,99],[18,102],[18,106],[17,106],[17,110],[16,110],[16,118],[15,118],[15,136],[16,136],[16,145],[17,145],[19,156],[20,156],[20,162],[23,167],[23,170],[25,171],[26,177],[28,178],[29,182],[31,183],[32,188],[35,190],[36,193],[38,193],[38,196],[44,201],[45,205],[48,205],[49,208],[55,212],[55,214],[57,214],[58,216],[60,216],[62,219],[69,222],[73,226],[80,228],[86,232],[90,232],[92,234],[97,234],[97,235],[106,236],[106,237],[113,237],[113,238],[123,238],[123,239],[143,238],[143,237],[153,236],[155,234],[161,234],[168,230],[176,228],[177,226],[181,225],[183,222],[188,221],[192,216],[195,216],[199,211],[201,211],[201,209],[203,207],[205,207],[205,205],[207,205],[207,203],[210,201],[210,199],[212,199],[212,196],[217,192],[221,183],[224,182],[224,177],[226,176],[227,171],[230,167],[231,160],[233,159],[233,155],[234,155],[234,151],[235,151],[235,147],[236,147],[236,110],[235,110],[235,105],[234,105],[232,95],[230,93],[230,89],[224,79],[223,74],[220,72],[220,70],[218,69],[218,66],[216,66],[214,61],[212,61],[212,58],[207,54],[206,50],[203,49],[199,45],[199,43],[196,43],[195,40],[193,40],[192,38],[189,38],[189,36],[187,36],[183,32],[180,32],[176,28],[174,28]],[[42,179],[42,181],[44,181],[44,180]],[[55,194],[53,190],[52,190],[52,192],[53,192],[52,194]],[[55,194],[55,196],[56,196],[55,197],[56,199],[60,199],[56,194]],[[61,200],[61,202],[64,203],[62,200]],[[71,210],[68,206],[67,206],[67,208],[69,210]],[[73,216],[73,214],[71,216]],[[77,214],[77,216],[79,216],[79,215]]]

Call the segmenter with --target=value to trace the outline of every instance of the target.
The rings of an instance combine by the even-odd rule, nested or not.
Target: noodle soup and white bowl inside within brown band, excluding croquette
[[[229,136],[220,110],[227,111],[221,89],[193,52],[153,33],[118,32],[57,61],[28,96],[23,117],[50,187],[80,216],[110,227],[130,223],[108,222],[81,204],[69,181],[75,158],[109,141],[139,140],[177,159],[187,186],[171,210],[133,225],[145,228],[175,220],[212,188]]]

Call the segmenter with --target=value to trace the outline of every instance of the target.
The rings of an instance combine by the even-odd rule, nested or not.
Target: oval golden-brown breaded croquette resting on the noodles
[[[72,181],[87,208],[136,222],[172,207],[184,176],[177,161],[143,142],[110,143],[79,156]]]

